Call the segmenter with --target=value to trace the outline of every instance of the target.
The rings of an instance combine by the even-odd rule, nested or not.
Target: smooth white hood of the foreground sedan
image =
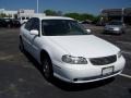
[[[57,44],[74,57],[98,58],[116,54],[119,48],[94,35],[81,36],[51,36],[52,42]]]

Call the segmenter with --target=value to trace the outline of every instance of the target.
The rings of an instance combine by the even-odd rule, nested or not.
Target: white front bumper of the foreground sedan
[[[69,83],[88,83],[109,78],[122,72],[126,60],[121,57],[117,62],[108,65],[72,65],[72,64],[53,64],[53,75]],[[114,66],[112,73],[103,75],[103,69]]]

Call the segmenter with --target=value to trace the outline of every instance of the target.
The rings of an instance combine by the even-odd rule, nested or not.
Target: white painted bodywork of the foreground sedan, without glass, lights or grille
[[[72,20],[61,16],[44,16],[41,20]],[[41,29],[40,29],[41,33]],[[116,62],[108,65],[93,65],[90,58],[108,57],[118,54],[120,49],[112,44],[103,40],[94,35],[72,35],[72,36],[34,36],[29,30],[21,27],[20,33],[24,48],[40,63],[40,51],[46,50],[52,61],[55,76],[73,82],[74,78],[96,77],[95,79],[81,81],[78,83],[87,83],[106,77],[115,76],[121,73],[124,68],[124,58],[120,57]],[[83,57],[88,61],[87,64],[69,64],[61,60],[62,56],[71,54],[73,57]],[[109,66],[115,66],[117,74],[99,77],[102,70]],[[75,83],[75,82],[74,82]]]

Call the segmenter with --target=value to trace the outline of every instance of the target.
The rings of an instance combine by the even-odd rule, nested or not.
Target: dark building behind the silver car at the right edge
[[[126,24],[131,24],[131,8],[105,9],[102,10],[100,15],[103,22],[118,20],[124,22]]]

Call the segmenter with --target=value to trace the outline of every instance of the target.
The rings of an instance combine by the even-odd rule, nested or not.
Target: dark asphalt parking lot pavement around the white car
[[[0,28],[0,98],[131,98],[131,30],[104,35],[103,27],[90,26],[93,34],[120,47],[127,60],[122,74],[100,82],[72,85],[55,78],[47,82],[40,65],[19,50],[19,28]]]

